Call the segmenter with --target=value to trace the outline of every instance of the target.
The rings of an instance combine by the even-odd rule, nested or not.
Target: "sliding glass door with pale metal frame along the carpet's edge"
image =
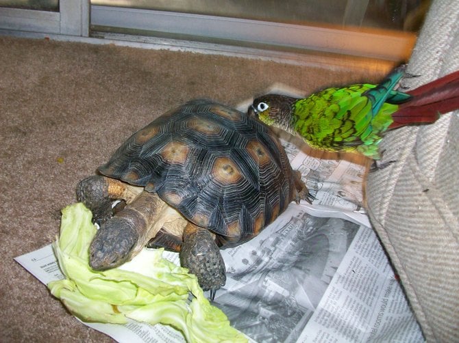
[[[0,0],[0,30],[401,61],[429,1]]]

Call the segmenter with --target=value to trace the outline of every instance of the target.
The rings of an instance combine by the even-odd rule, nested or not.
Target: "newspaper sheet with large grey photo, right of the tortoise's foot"
[[[256,342],[423,342],[373,230],[291,204],[229,265],[216,305]]]

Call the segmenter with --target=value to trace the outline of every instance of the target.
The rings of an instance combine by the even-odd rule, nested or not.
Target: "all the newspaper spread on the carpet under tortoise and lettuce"
[[[314,201],[290,204],[251,241],[221,250],[227,282],[214,305],[251,342],[423,342],[364,212],[369,161],[281,140]],[[164,257],[179,264],[177,253]],[[15,260],[43,284],[64,277],[51,245]],[[84,324],[118,342],[184,342],[166,325]]]

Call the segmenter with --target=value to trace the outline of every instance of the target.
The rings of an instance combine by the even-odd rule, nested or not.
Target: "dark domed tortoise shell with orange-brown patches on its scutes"
[[[134,133],[99,172],[157,192],[224,247],[256,236],[297,196],[271,129],[208,100],[188,102]]]

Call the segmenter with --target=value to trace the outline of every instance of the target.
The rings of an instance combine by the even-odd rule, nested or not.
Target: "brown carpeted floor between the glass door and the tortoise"
[[[110,342],[13,258],[51,243],[75,184],[134,131],[197,97],[229,105],[272,83],[306,92],[377,81],[373,69],[0,36],[0,340]]]

